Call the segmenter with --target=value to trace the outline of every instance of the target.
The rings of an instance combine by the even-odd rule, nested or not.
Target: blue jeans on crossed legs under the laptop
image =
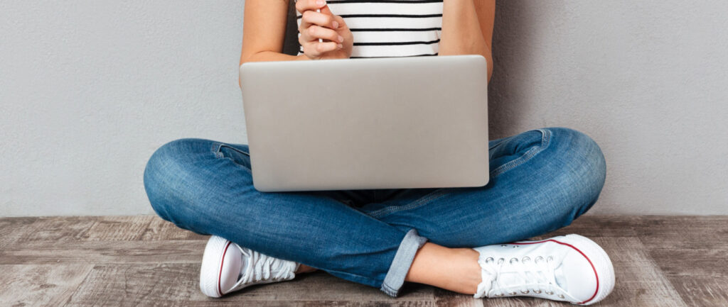
[[[180,139],[151,156],[154,210],[199,234],[303,263],[396,296],[424,242],[478,247],[571,224],[596,202],[606,165],[596,142],[544,128],[489,142],[485,187],[258,192],[248,146]]]

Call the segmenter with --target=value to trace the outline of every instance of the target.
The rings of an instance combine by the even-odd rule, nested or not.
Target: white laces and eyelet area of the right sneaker
[[[521,277],[521,283],[506,285],[502,281],[501,275],[505,266],[512,268]],[[486,294],[492,294],[495,297],[506,294],[510,296],[518,295],[515,290],[519,290],[521,295],[527,295],[531,292],[534,294],[545,292],[547,295],[553,295],[555,292],[562,292],[556,284],[555,265],[551,257],[543,258],[538,256],[533,261],[528,256],[523,257],[521,260],[511,258],[510,261],[505,261],[504,258],[499,258],[498,261],[495,261],[494,258],[486,258],[485,261],[480,261],[480,267],[486,270],[488,274],[491,274],[493,278],[491,279],[491,288]],[[563,298],[563,295],[558,294],[558,297]]]

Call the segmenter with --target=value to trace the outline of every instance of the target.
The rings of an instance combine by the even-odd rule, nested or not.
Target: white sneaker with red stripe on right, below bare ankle
[[[475,298],[530,296],[590,305],[614,289],[609,256],[578,234],[475,250],[483,277]]]

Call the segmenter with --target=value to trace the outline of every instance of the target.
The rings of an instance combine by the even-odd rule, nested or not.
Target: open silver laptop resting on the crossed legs
[[[253,185],[482,187],[487,71],[478,55],[245,63]]]

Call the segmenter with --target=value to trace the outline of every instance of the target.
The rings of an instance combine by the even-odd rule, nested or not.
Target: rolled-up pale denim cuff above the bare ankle
[[[419,250],[419,247],[424,245],[424,242],[427,242],[427,238],[420,237],[415,229],[410,229],[405,234],[402,243],[400,243],[400,247],[397,248],[395,259],[392,261],[392,265],[389,266],[387,276],[384,277],[384,282],[381,284],[381,290],[384,293],[392,297],[397,296],[400,288],[405,283],[405,277],[407,277],[409,268],[412,266],[414,255]]]

